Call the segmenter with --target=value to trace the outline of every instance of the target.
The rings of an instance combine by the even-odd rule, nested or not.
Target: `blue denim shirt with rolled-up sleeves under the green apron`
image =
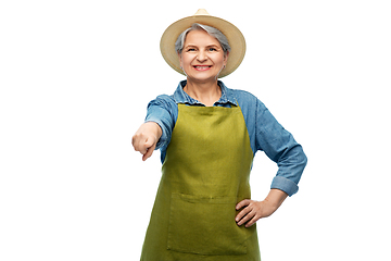
[[[184,91],[186,83],[186,80],[180,82],[174,95],[159,96],[148,104],[146,122],[157,123],[163,132],[156,145],[156,149],[161,149],[162,163],[178,117],[177,104],[204,105]],[[255,96],[243,90],[229,89],[220,80],[218,85],[222,88],[222,97],[214,105],[227,108],[239,105],[249,132],[253,154],[255,156],[258,150],[264,151],[277,163],[278,172],[270,188],[280,189],[289,196],[295,194],[307,162],[302,147]]]

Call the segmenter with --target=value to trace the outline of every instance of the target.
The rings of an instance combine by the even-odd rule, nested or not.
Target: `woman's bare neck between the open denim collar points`
[[[188,78],[184,90],[191,98],[202,102],[206,107],[212,107],[222,97],[222,89],[217,80],[197,83]]]

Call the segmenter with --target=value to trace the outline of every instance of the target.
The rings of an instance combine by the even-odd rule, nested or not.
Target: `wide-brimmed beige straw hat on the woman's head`
[[[179,65],[178,53],[175,51],[175,41],[178,36],[189,28],[193,23],[209,25],[219,29],[228,39],[231,48],[228,62],[218,75],[219,78],[232,73],[242,62],[245,53],[245,40],[242,33],[228,21],[210,15],[206,10],[200,9],[194,15],[188,16],[173,23],[164,32],[161,39],[161,52],[164,60],[178,73],[185,75]]]

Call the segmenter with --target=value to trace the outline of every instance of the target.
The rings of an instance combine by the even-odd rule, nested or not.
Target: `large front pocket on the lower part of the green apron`
[[[167,249],[209,256],[245,254],[253,229],[235,222],[236,197],[173,194]]]

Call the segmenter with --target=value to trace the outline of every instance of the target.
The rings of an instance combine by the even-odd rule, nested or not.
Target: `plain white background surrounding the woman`
[[[184,77],[159,42],[205,8],[245,36],[224,78],[302,144],[300,190],[257,223],[263,261],[391,260],[388,1],[2,1],[0,260],[139,260],[160,154],[131,147]],[[253,198],[276,165],[254,160]]]

